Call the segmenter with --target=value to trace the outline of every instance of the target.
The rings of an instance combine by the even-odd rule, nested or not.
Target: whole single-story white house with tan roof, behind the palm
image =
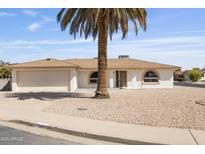
[[[11,65],[12,90],[75,91],[96,88],[97,59],[48,58]],[[108,59],[109,88],[172,88],[177,66],[129,58]]]

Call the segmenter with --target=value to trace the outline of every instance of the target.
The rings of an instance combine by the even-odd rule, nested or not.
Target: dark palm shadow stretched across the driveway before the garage
[[[91,95],[71,92],[27,92],[8,93],[6,98],[16,98],[17,100],[37,99],[41,101],[51,101],[64,98],[93,98]]]

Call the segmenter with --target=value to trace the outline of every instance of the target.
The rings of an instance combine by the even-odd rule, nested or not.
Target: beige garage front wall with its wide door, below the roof
[[[71,70],[17,69],[12,71],[12,91],[70,91]]]

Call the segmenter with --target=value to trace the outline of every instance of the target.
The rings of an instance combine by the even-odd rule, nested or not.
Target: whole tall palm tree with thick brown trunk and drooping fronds
[[[76,37],[84,35],[85,39],[98,36],[98,84],[95,98],[109,98],[107,90],[107,40],[112,40],[113,33],[122,31],[122,39],[127,38],[129,20],[133,23],[135,32],[138,24],[146,30],[146,10],[142,8],[69,8],[61,9],[57,15],[61,30],[66,30],[70,24],[70,34]]]

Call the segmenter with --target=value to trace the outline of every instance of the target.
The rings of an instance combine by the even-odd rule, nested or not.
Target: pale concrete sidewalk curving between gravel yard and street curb
[[[12,103],[0,104],[0,120],[41,123],[70,132],[88,134],[96,139],[127,141],[130,144],[205,144],[205,131],[122,124],[41,112]],[[85,136],[86,137],[86,136]]]

